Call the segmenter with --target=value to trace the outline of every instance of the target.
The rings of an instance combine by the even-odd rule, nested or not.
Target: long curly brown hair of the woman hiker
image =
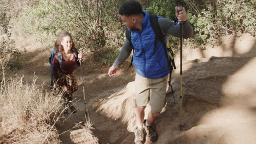
[[[57,38],[57,40],[55,41],[55,44],[54,44],[54,49],[56,49],[56,52],[63,52],[64,49],[63,49],[63,46],[61,45],[61,41],[63,40],[63,37],[66,37],[66,36],[69,36],[72,40],[72,47],[71,49],[75,49],[77,50],[77,48],[75,48],[75,44],[73,42],[73,39],[71,37],[71,34],[68,33],[68,32],[62,32],[59,37]]]

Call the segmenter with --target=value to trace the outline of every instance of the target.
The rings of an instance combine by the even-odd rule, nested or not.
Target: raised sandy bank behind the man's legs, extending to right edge
[[[222,43],[223,47],[203,51],[205,58],[199,50],[190,51],[191,54],[185,56],[184,127],[179,131],[177,78],[172,82],[176,105],[172,95],[167,94],[166,106],[156,121],[159,140],[155,143],[255,143],[255,41],[255,38],[248,35],[238,39],[230,37],[226,38],[226,43]],[[189,61],[190,58],[197,60]],[[179,77],[179,70],[175,72],[174,77]],[[120,88],[120,91],[106,94],[107,98],[94,103],[97,112],[118,119],[131,132],[136,127],[133,86],[133,82],[130,82],[125,88]],[[146,111],[149,111],[149,105]],[[132,143],[133,139],[133,133],[130,133],[119,143]],[[146,143],[150,142],[147,140]]]

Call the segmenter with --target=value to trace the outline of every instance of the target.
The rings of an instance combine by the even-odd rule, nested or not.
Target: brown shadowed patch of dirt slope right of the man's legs
[[[236,51],[235,43],[239,43],[239,41],[236,40],[236,35],[232,38],[230,47],[222,45],[223,51],[232,51],[231,56],[235,56],[235,57],[211,57],[208,60],[208,62],[193,63],[192,66],[190,63],[190,68],[188,70],[183,71],[184,83],[183,83],[182,131],[186,131],[193,127],[196,127],[200,123],[200,121],[203,121],[202,119],[203,116],[205,116],[208,112],[214,109],[219,109],[220,107],[225,107],[230,105],[241,105],[240,103],[248,103],[248,101],[255,101],[255,99],[252,97],[252,94],[253,94],[253,91],[254,92],[256,91],[256,87],[252,88],[250,86],[252,85],[252,83],[251,84],[236,83],[236,81],[233,82],[234,80],[232,81],[232,79],[234,79],[233,75],[237,75],[239,71],[247,69],[248,64],[251,63],[253,59],[254,59],[253,62],[255,64],[256,40],[254,40],[254,44],[251,47],[250,51],[243,54],[240,54]],[[251,75],[251,79],[255,79],[255,76]],[[179,115],[179,94],[180,94],[179,81],[180,81],[179,79],[176,79],[172,83],[173,89],[174,89],[174,97],[176,99],[176,105],[174,105],[174,101],[171,93],[167,94],[166,95],[167,104],[165,106],[166,110],[165,112],[162,113],[162,115],[160,115],[160,118],[156,121],[158,125],[157,127],[159,129],[159,135],[162,135],[163,137],[166,135],[171,135],[170,130],[167,130],[167,129],[173,129],[171,131],[173,131],[174,135],[176,133],[175,131],[179,130],[179,122],[180,122],[179,121],[179,116],[180,116]],[[246,80],[242,79],[238,82],[243,82],[243,81],[246,81]],[[229,87],[227,86],[228,85],[227,83],[235,83],[234,84],[236,86],[235,88],[239,88],[239,86],[244,86],[244,87],[248,87],[248,89],[241,88],[242,90],[241,93],[237,93],[237,95],[230,95],[232,94],[232,92],[230,92],[232,90],[229,89]],[[238,90],[235,90],[235,91],[238,91]],[[245,93],[243,93],[243,91]],[[251,93],[246,93],[248,91]],[[251,94],[251,95],[248,95],[248,94]],[[239,99],[238,101],[236,100],[238,95],[246,98]],[[242,95],[245,95],[245,96],[242,96]],[[250,109],[249,107],[244,106],[244,108],[246,109],[246,111],[248,111],[248,113],[250,112],[255,113],[255,110],[256,110],[255,107]],[[253,117],[253,114],[250,116]],[[163,122],[167,122],[168,126],[166,126],[165,124],[162,124]],[[212,133],[214,133],[214,131]],[[254,133],[256,134],[256,131],[254,131]],[[204,134],[201,134],[199,137],[203,137],[203,135]],[[176,141],[172,141],[172,142],[174,143],[196,142],[196,140],[192,140],[191,137],[185,138],[184,136],[183,138],[185,140],[181,141],[181,139],[177,139]],[[200,138],[200,139],[203,139],[203,138]],[[207,139],[210,139],[210,138],[208,137]],[[160,140],[158,141],[158,143],[165,143],[165,142],[162,142]],[[197,143],[203,143],[203,142],[197,141]]]

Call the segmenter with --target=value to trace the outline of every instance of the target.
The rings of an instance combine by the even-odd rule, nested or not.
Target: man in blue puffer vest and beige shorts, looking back
[[[124,2],[119,9],[119,15],[124,25],[131,31],[131,41],[125,40],[117,60],[108,70],[108,75],[114,76],[117,73],[118,67],[129,57],[133,46],[135,51],[132,64],[136,67],[137,128],[135,131],[135,143],[143,143],[143,127],[147,132],[147,137],[155,142],[158,140],[158,133],[154,122],[159,117],[164,106],[169,73],[164,45],[158,40],[154,51],[155,33],[150,26],[149,14],[147,11],[142,10],[142,6],[138,1],[130,0]],[[183,37],[192,37],[193,28],[187,20],[185,10],[178,11],[176,7],[176,16],[179,22],[183,22]],[[179,37],[179,25],[175,25],[174,22],[164,17],[159,17],[158,22],[163,33]],[[143,122],[144,109],[148,101],[151,111],[148,113],[147,120]]]

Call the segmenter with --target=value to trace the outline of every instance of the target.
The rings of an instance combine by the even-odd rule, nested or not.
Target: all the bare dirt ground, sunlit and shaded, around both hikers
[[[38,83],[49,85],[49,53],[46,49],[28,51],[17,74],[30,80],[36,71]],[[156,121],[159,140],[155,143],[253,143],[256,139],[255,56],[256,39],[248,34],[240,38],[230,35],[205,51],[184,50],[182,131],[178,126],[180,64],[176,56],[177,70],[172,77],[176,105],[172,95],[167,94],[166,106]],[[133,143],[135,71],[120,70],[117,76],[109,77],[107,70],[90,74],[85,72],[86,68],[78,70],[78,78],[84,75],[86,106],[95,128],[92,134],[99,143]],[[79,90],[74,98],[78,100],[75,106],[79,111],[58,125],[59,133],[85,121],[82,82],[78,82]],[[149,109],[147,106],[146,112]],[[60,139],[63,143],[90,143],[83,137],[86,134],[78,127]]]

